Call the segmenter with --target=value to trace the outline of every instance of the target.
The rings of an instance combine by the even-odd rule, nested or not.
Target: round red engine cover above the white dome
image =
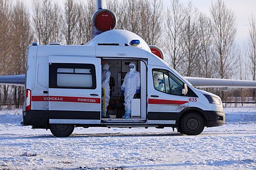
[[[100,9],[93,15],[93,24],[99,32],[113,30],[116,26],[116,16],[108,9]]]

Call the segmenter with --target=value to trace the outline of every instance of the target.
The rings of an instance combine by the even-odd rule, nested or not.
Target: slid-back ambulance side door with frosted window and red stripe
[[[50,123],[100,123],[100,59],[50,56],[48,101]]]

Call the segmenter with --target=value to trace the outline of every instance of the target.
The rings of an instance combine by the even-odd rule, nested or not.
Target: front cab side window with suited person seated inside
[[[153,83],[156,90],[172,95],[182,95],[183,83],[170,71],[153,69]]]

